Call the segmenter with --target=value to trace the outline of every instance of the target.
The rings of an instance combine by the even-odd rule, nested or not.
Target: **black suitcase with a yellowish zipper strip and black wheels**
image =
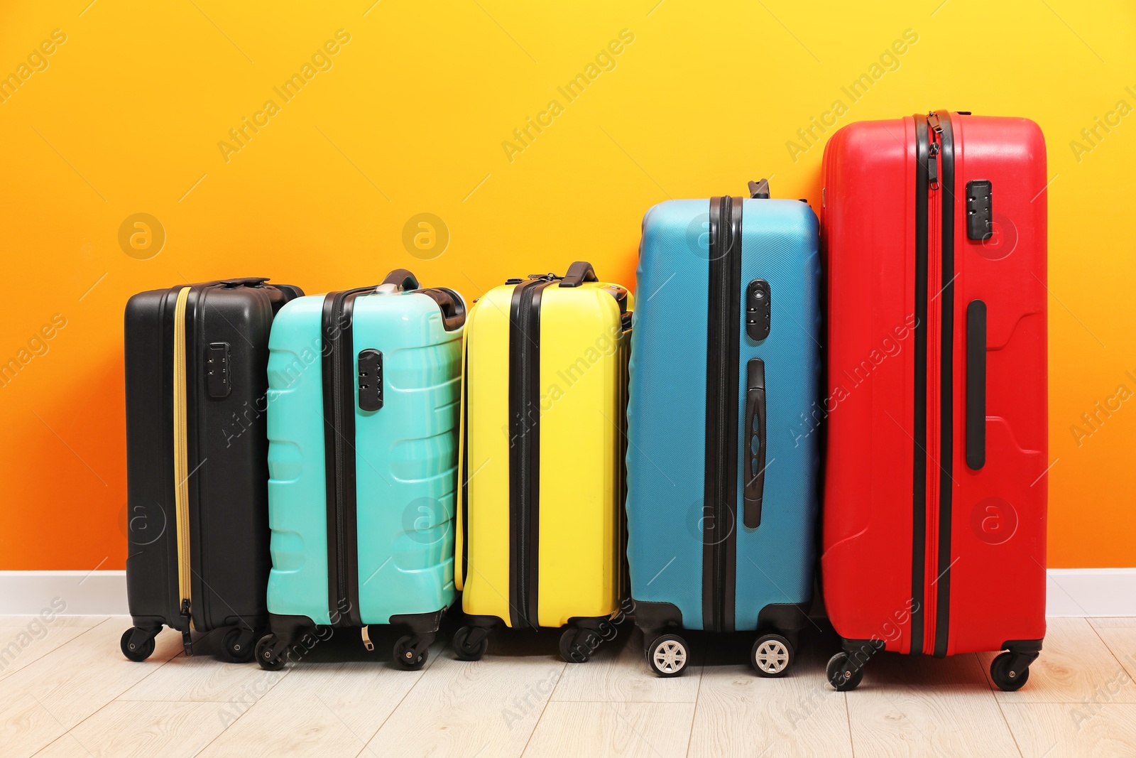
[[[264,277],[185,284],[126,303],[126,593],[131,660],[162,625],[232,627],[249,660],[265,626],[265,393],[273,317],[299,288]]]

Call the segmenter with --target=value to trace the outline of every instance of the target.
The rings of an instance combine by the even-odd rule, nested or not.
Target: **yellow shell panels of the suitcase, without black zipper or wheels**
[[[467,542],[462,608],[513,625],[510,561],[510,305],[515,284],[494,288],[466,332],[463,466]],[[621,599],[623,417],[628,335],[618,285],[557,283],[540,308],[540,626],[605,618]],[[532,619],[529,619],[532,620]]]

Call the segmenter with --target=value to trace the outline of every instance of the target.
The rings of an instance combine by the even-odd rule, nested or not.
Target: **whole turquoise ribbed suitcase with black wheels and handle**
[[[264,668],[329,627],[394,624],[420,668],[453,602],[461,334],[457,292],[406,269],[379,286],[295,300],[268,359],[272,633]]]

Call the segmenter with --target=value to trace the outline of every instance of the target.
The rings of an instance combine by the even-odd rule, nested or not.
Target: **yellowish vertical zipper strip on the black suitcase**
[[[177,593],[182,617],[182,647],[192,656],[190,630],[193,628],[193,599],[190,581],[190,492],[186,423],[185,311],[192,288],[177,291],[174,305],[174,509],[177,530]]]

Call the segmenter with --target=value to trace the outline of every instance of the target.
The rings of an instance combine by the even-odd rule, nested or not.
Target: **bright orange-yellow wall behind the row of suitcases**
[[[1136,107],[1130,2],[85,2],[0,10],[0,74],[26,74],[0,102],[0,360],[26,359],[0,386],[0,569],[123,566],[132,293],[241,275],[315,293],[404,266],[476,297],[576,258],[630,283],[643,211],[668,197],[771,175],[819,208],[821,147],[796,133],[837,100],[838,124],[951,107],[1042,125],[1050,564],[1136,566],[1136,400],[1081,420],[1136,392],[1136,116],[1113,113]],[[594,81],[569,100],[577,74]],[[219,147],[245,117],[259,132]],[[1094,144],[1097,117],[1119,125]],[[503,147],[528,118],[551,124]],[[119,244],[139,213],[166,236],[144,260]],[[421,213],[449,230],[432,260],[402,241]]]

